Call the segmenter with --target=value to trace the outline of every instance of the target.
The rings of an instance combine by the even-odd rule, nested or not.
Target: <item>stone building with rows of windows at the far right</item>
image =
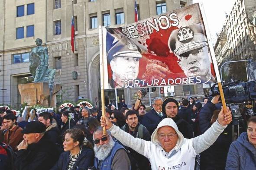
[[[214,50],[218,66],[231,60],[255,60],[256,0],[236,0],[227,14]],[[223,71],[227,73],[228,64]]]

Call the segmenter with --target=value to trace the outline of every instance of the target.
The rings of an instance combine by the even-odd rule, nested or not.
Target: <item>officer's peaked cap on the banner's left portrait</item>
[[[107,53],[107,63],[115,57],[133,57],[142,58],[140,49],[133,42],[126,38],[122,38]]]

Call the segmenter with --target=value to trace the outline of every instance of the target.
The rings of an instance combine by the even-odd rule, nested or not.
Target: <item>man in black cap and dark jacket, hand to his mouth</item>
[[[58,161],[55,143],[45,134],[45,125],[29,122],[21,131],[23,141],[17,146],[15,167],[17,170],[49,170]]]

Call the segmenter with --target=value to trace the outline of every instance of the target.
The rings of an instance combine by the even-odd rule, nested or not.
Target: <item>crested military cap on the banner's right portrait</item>
[[[208,45],[204,25],[196,23],[172,31],[169,48],[176,55]]]

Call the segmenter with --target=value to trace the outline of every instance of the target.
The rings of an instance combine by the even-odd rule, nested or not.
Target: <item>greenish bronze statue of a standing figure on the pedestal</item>
[[[31,49],[29,59],[29,71],[34,78],[34,82],[48,82],[50,92],[53,91],[53,81],[55,77],[55,69],[48,69],[48,49],[42,47],[42,40],[36,38],[37,47]]]

